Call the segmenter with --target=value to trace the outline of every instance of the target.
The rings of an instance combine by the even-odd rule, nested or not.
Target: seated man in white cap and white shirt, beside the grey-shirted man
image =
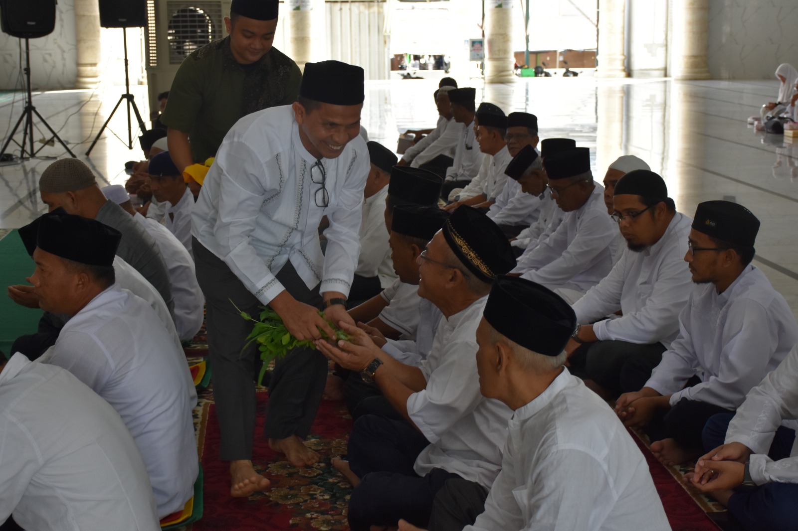
[[[136,212],[130,202],[130,196],[120,184],[105,187],[102,192],[110,201],[117,203],[122,210],[132,215],[133,219],[139,222],[140,226],[158,244],[160,254],[164,256],[164,262],[169,271],[169,280],[172,281],[177,336],[180,341],[193,340],[196,333],[199,332],[199,328],[202,328],[205,318],[205,297],[203,297],[202,290],[199,289],[192,255],[188,254],[188,250],[180,243],[180,240],[165,226],[156,222],[155,219],[144,218],[143,215]],[[122,287],[130,289],[125,285]],[[132,289],[130,291],[136,293]],[[136,295],[148,300],[148,297],[142,297],[140,293],[136,293]]]

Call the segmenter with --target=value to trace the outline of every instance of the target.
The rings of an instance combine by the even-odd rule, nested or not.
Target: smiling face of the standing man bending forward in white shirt
[[[318,103],[307,112],[294,103],[294,116],[299,124],[299,137],[310,155],[317,159],[335,159],[344,146],[360,134],[360,112],[363,104],[334,105]]]

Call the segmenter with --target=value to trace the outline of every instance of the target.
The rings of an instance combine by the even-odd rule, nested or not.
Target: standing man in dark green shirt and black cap
[[[233,0],[229,35],[186,57],[161,115],[180,171],[216,155],[227,131],[243,116],[297,99],[302,73],[272,47],[278,0]]]

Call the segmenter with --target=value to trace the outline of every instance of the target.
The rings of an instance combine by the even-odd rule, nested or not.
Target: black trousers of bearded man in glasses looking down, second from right
[[[626,341],[585,343],[571,355],[571,373],[583,380],[593,380],[618,396],[640,391],[651,372],[662,360],[662,343],[636,344]]]

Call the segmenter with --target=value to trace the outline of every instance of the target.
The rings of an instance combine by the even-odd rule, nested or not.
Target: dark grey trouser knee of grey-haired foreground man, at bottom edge
[[[467,479],[449,479],[438,490],[429,517],[429,531],[462,531],[485,510],[488,489]]]

